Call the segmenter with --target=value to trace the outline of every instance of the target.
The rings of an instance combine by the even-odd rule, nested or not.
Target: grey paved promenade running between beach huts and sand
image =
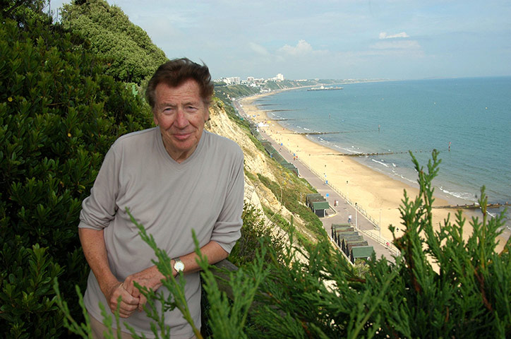
[[[351,225],[357,227],[357,230],[359,230],[359,233],[363,236],[363,239],[368,242],[369,246],[373,246],[373,249],[376,253],[376,258],[385,256],[387,261],[395,262],[394,256],[397,256],[398,251],[395,246],[391,244],[390,239],[383,239],[380,237],[378,232],[379,226],[373,224],[373,222],[362,215],[359,210],[357,210],[355,206],[351,205],[349,201],[345,200],[344,197],[339,194],[339,192],[335,191],[335,189],[327,185],[323,178],[313,173],[305,163],[301,162],[300,160],[293,160],[293,153],[291,153],[291,150],[274,141],[270,136],[267,135],[267,133],[265,133],[265,131],[260,129],[259,132],[263,138],[265,138],[267,141],[270,141],[273,148],[279,151],[280,155],[282,155],[285,160],[291,162],[296,166],[296,168],[298,168],[300,177],[306,179],[307,182],[311,184],[311,186],[313,186],[319,194],[325,196],[328,203],[330,204],[330,209],[327,210],[327,216],[325,218],[320,218],[320,220],[323,222],[323,227],[325,227],[325,231],[329,236],[331,234],[332,224],[347,223],[348,215],[351,214]],[[335,200],[337,200],[339,204],[334,207]],[[387,245],[387,243],[389,245]],[[335,244],[335,246],[337,246],[337,244]]]

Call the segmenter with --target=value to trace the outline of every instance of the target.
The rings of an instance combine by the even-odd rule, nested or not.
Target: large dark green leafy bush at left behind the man
[[[85,285],[81,201],[114,140],[152,124],[143,99],[104,75],[80,42],[47,21],[0,26],[0,333],[9,338],[62,332],[52,292],[41,291],[57,275],[68,283],[66,295]],[[30,248],[44,249],[47,268],[22,275],[35,261]],[[78,303],[71,305],[74,314]]]

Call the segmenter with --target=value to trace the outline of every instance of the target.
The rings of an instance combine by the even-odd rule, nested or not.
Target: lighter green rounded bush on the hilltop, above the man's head
[[[119,81],[140,83],[167,61],[148,34],[107,1],[74,1],[63,6],[61,16],[64,27],[90,41],[92,51],[107,60],[105,73]]]

